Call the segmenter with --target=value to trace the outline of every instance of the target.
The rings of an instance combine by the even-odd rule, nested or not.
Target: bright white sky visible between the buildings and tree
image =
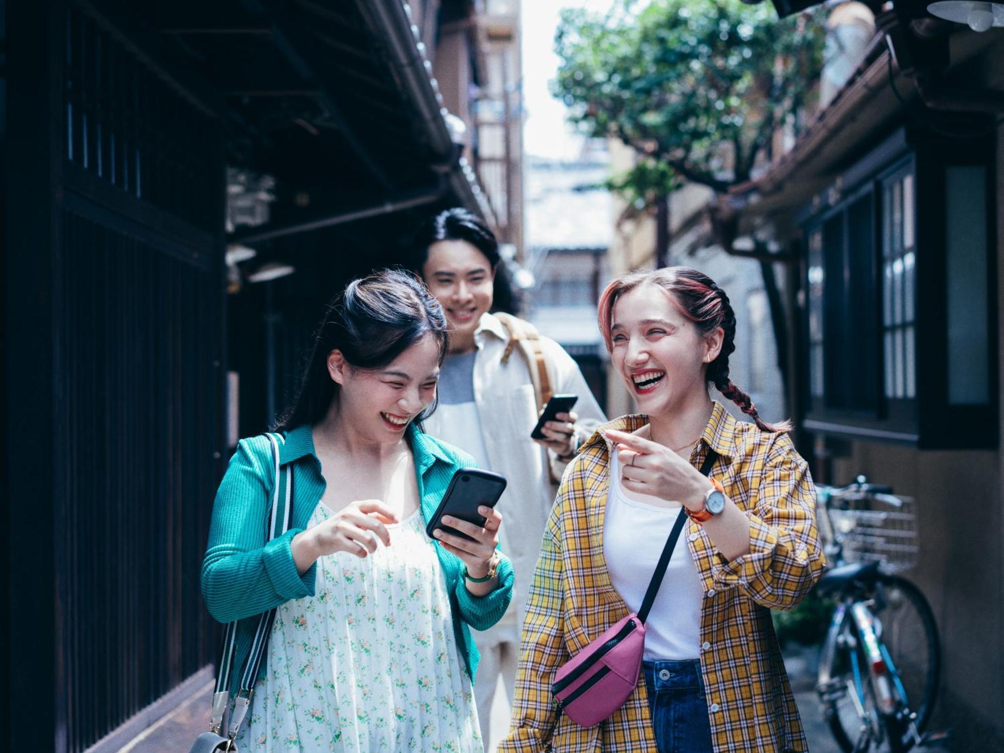
[[[586,7],[603,12],[612,0],[522,0],[523,143],[527,155],[556,160],[575,159],[582,138],[565,122],[565,106],[551,96],[549,84],[558,69],[554,30],[562,8]]]

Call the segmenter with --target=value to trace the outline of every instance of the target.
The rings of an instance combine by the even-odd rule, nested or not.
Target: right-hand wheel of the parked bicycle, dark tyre
[[[897,692],[905,706],[917,714],[915,724],[923,731],[931,720],[941,676],[941,644],[934,613],[921,589],[899,575],[883,574],[875,581],[871,612],[881,625],[880,644]],[[900,736],[908,732],[900,724]],[[894,725],[890,735],[895,734]],[[909,749],[909,745],[903,750]]]

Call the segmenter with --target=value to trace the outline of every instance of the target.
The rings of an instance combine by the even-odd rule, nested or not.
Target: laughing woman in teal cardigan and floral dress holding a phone
[[[356,280],[328,309],[300,394],[279,430],[290,529],[270,541],[271,443],[242,440],[213,508],[202,590],[241,620],[243,665],[258,615],[278,607],[238,742],[247,751],[483,750],[470,628],[505,612],[513,574],[502,515],[425,533],[465,453],[421,430],[447,346],[439,303],[417,279]],[[238,673],[235,673],[235,675]],[[236,678],[235,678],[236,682]]]

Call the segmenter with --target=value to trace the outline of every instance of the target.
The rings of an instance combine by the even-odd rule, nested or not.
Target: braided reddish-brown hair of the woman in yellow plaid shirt
[[[708,382],[739,406],[739,410],[752,418],[763,431],[790,432],[791,423],[788,421],[768,424],[761,419],[750,397],[729,379],[729,355],[736,349],[736,314],[729,303],[729,296],[703,272],[689,267],[666,267],[655,271],[630,272],[613,280],[599,296],[599,331],[606,341],[606,349],[611,347],[613,304],[621,295],[644,284],[662,288],[680,312],[697,325],[702,335],[722,327],[725,333],[722,349],[718,357],[708,364]]]

